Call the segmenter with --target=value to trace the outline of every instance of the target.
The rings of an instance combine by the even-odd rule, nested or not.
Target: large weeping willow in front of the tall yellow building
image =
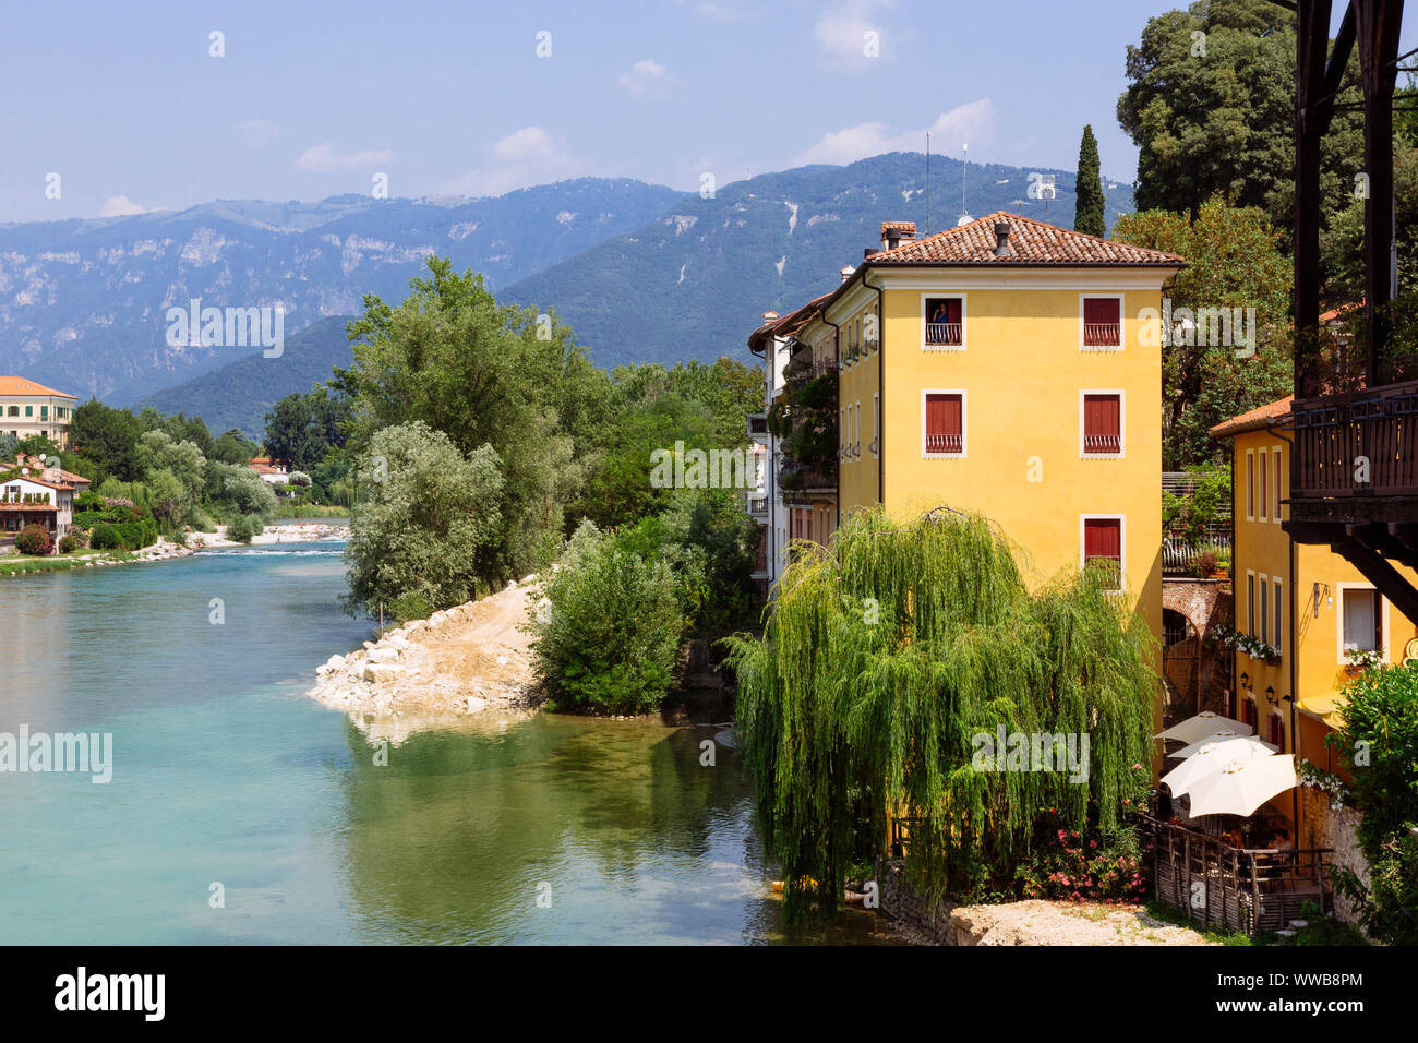
[[[908,876],[933,895],[1012,878],[1039,809],[1081,833],[1126,827],[1161,681],[1151,631],[1099,576],[1031,593],[993,524],[949,511],[908,525],[862,512],[825,552],[808,548],[763,637],[729,640],[739,741],[790,915],[835,908],[847,867],[882,850],[892,816],[912,820]],[[1004,751],[981,762],[978,736],[1001,725],[1088,736],[1086,779],[1014,771]]]

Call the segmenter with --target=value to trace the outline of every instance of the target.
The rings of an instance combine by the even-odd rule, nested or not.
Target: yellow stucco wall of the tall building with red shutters
[[[1160,281],[1160,280],[1159,280]],[[885,291],[882,436],[885,502],[896,517],[947,505],[1000,524],[1028,555],[1031,579],[1076,569],[1083,515],[1122,515],[1129,597],[1161,631],[1161,348],[1136,315],[1160,289],[1124,294],[1122,351],[1081,349],[1081,291]],[[1093,294],[1116,292],[1100,274]],[[922,295],[966,297],[964,349],[922,348]],[[837,321],[837,316],[831,316]],[[1149,336],[1150,335],[1150,336]],[[862,458],[841,465],[844,517],[878,500],[866,451],[878,359],[844,368],[841,400],[862,403]],[[966,456],[922,451],[923,390],[964,390]],[[1123,458],[1081,458],[1081,392],[1123,393]]]

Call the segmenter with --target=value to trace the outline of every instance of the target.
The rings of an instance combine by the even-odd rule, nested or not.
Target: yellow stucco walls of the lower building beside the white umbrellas
[[[1271,705],[1266,701],[1265,690],[1275,688],[1276,697],[1297,694],[1299,698],[1336,694],[1349,680],[1344,668],[1343,654],[1343,590],[1344,589],[1373,589],[1364,576],[1344,558],[1333,553],[1327,546],[1297,543],[1295,546],[1295,569],[1290,569],[1290,541],[1285,535],[1276,514],[1276,470],[1280,475],[1279,498],[1289,495],[1289,453],[1290,446],[1278,434],[1269,431],[1246,431],[1234,440],[1235,461],[1235,620],[1236,629],[1263,637],[1275,643],[1273,622],[1273,583],[1282,580],[1283,616],[1280,622],[1280,661],[1268,664],[1263,660],[1252,658],[1244,651],[1236,653],[1236,675],[1249,675],[1249,692],[1242,691],[1242,698],[1252,698],[1256,702],[1259,734],[1268,738],[1268,715],[1276,708],[1280,712],[1285,751],[1295,751],[1295,736],[1290,728],[1289,704],[1278,702]],[[1261,454],[1265,454],[1269,467],[1269,502],[1256,502],[1252,508],[1248,494],[1246,461],[1251,461],[1252,481],[1259,487]],[[1280,519],[1288,517],[1289,508],[1279,507]],[[1412,569],[1398,566],[1398,570],[1415,580]],[[1255,576],[1256,610],[1255,619],[1251,613],[1249,578]],[[1259,589],[1262,578],[1271,596],[1271,609],[1266,616],[1268,634],[1259,633]],[[1316,583],[1319,583],[1319,609],[1316,612]],[[1384,612],[1384,644],[1390,663],[1398,663],[1404,654],[1404,646],[1418,636],[1418,629],[1387,599],[1383,603]],[[1293,681],[1292,681],[1293,670]],[[1323,763],[1322,751],[1299,751],[1303,756]]]

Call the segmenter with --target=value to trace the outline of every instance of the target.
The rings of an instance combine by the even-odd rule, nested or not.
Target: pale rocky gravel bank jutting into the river
[[[527,576],[330,656],[306,694],[347,712],[370,738],[396,742],[489,711],[530,712],[543,701],[523,629],[535,582]]]

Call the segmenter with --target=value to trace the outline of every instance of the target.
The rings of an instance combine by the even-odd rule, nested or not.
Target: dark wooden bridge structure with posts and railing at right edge
[[[1404,0],[1350,0],[1329,38],[1333,0],[1272,0],[1296,13],[1295,402],[1290,517],[1297,543],[1329,545],[1408,619],[1418,589],[1418,360],[1390,343],[1397,287],[1394,84]],[[1364,345],[1343,383],[1323,359],[1319,322],[1320,142],[1358,50],[1364,109]],[[1358,173],[1358,172],[1356,172]],[[1405,379],[1407,377],[1407,379]]]

